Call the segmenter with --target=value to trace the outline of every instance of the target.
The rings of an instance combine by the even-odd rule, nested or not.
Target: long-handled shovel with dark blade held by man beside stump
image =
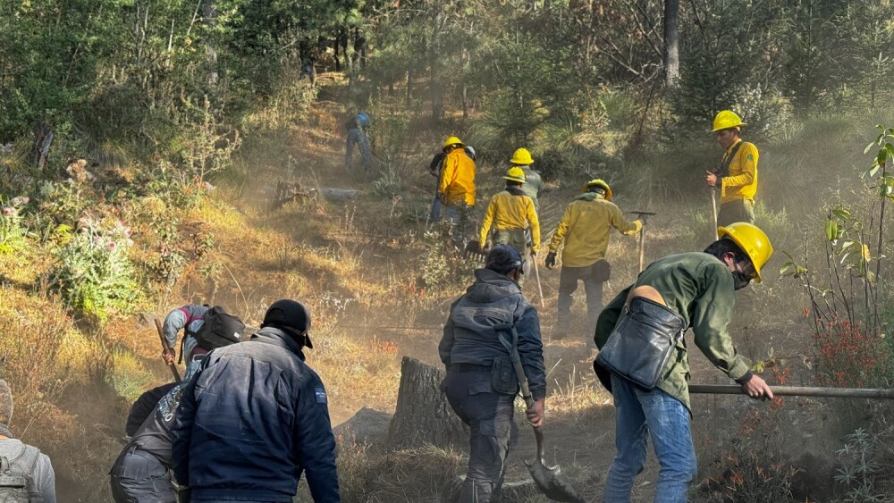
[[[515,327],[508,323],[500,323],[493,326],[493,330],[497,331],[500,343],[503,348],[509,351],[512,366],[515,367],[515,374],[519,378],[519,386],[521,387],[521,398],[525,398],[527,408],[534,407],[534,398],[531,396],[531,390],[527,386],[527,377],[525,370],[521,368],[521,357],[519,356],[519,333],[515,331]],[[509,331],[512,334],[512,343],[503,337],[502,331]],[[565,479],[561,477],[561,469],[559,466],[544,465],[544,432],[540,427],[534,427],[534,438],[537,441],[537,457],[534,461],[525,461],[527,471],[530,472],[534,484],[547,498],[553,501],[567,501],[569,503],[585,503],[580,497],[577,490],[574,490]]]

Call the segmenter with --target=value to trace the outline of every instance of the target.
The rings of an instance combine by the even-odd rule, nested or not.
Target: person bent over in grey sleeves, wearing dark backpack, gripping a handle
[[[183,330],[180,358],[186,355],[187,373],[198,366],[202,357],[213,348],[239,342],[245,324],[223,306],[197,306],[188,304],[177,307],[164,317],[162,333],[167,348],[162,351],[165,364],[171,364],[177,356],[177,332]]]

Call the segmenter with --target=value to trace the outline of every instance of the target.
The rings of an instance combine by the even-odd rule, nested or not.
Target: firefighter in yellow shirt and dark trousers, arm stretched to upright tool
[[[620,208],[611,202],[611,189],[603,180],[590,180],[584,186],[584,193],[578,195],[565,208],[559,227],[550,241],[550,253],[546,256],[546,267],[556,264],[559,245],[565,242],[561,254],[561,275],[559,277],[559,313],[555,334],[561,338],[568,334],[571,321],[571,295],[578,289],[578,281],[584,282],[586,291],[586,314],[589,320],[587,331],[595,330],[596,319],[603,310],[603,282],[611,274],[605,251],[609,247],[609,232],[614,227],[625,236],[636,234],[643,222],[628,222]],[[587,340],[590,339],[588,335]]]

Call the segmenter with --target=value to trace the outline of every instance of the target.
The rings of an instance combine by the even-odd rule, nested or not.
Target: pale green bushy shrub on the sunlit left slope
[[[142,298],[128,256],[130,229],[115,222],[101,229],[93,222],[55,252],[51,289],[72,309],[105,322],[109,314],[127,314]]]

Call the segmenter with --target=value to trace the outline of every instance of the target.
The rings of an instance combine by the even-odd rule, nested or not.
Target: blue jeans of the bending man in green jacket
[[[661,469],[655,503],[685,503],[689,482],[696,477],[696,449],[689,431],[689,411],[677,398],[655,389],[644,391],[611,374],[615,404],[615,447],[618,454],[605,481],[605,503],[627,503],[633,479],[642,473],[645,449],[652,437]]]

